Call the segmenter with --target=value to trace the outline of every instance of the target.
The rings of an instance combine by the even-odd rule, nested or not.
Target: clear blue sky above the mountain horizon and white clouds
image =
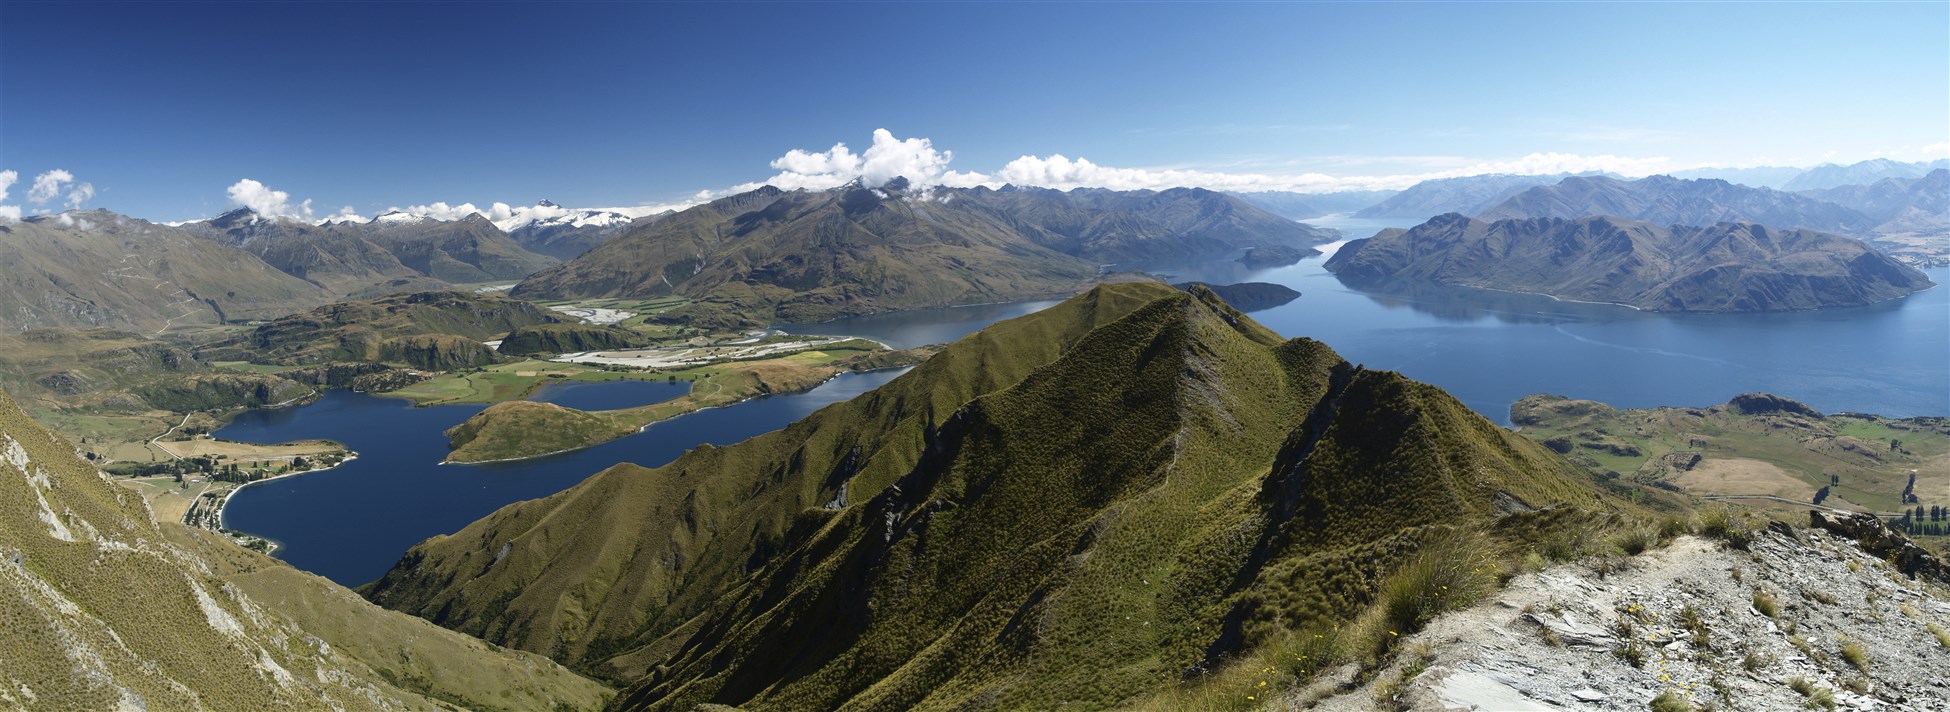
[[[876,129],[969,179],[1332,189],[1923,160],[1946,127],[1944,2],[0,4],[29,213],[57,168],[158,220],[244,178],[320,217],[671,203]]]

